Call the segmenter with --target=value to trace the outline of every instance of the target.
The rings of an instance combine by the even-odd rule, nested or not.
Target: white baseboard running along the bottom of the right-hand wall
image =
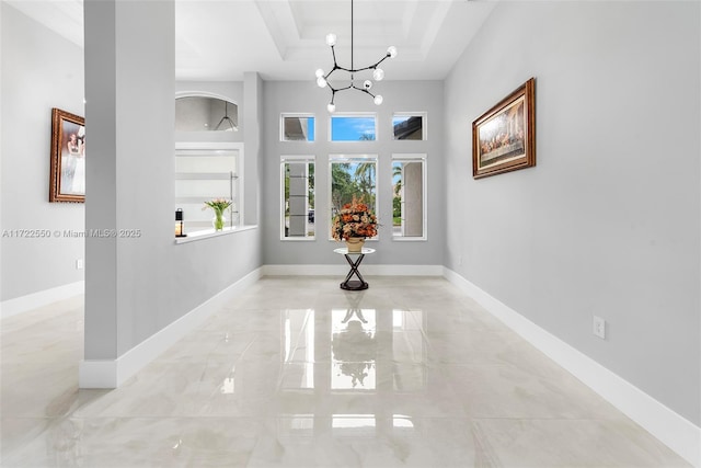
[[[452,270],[444,269],[444,276],[683,459],[701,467],[701,427],[538,327]]]

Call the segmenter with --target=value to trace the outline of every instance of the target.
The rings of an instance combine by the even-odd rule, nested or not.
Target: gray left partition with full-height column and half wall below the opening
[[[257,230],[174,243],[173,2],[84,8],[95,141],[85,225],[141,231],[87,240],[85,359],[108,361],[258,267],[261,254]]]

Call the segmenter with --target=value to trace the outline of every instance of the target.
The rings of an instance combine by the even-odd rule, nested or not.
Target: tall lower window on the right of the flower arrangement
[[[392,155],[392,236],[426,239],[426,155]]]

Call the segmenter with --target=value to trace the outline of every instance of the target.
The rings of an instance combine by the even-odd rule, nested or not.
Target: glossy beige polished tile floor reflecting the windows
[[[265,277],[116,390],[82,300],[2,321],[2,467],[681,467],[437,277]]]

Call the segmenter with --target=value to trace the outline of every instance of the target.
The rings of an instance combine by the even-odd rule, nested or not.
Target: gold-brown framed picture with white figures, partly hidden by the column
[[[85,202],[85,121],[51,110],[51,169],[48,201]]]

